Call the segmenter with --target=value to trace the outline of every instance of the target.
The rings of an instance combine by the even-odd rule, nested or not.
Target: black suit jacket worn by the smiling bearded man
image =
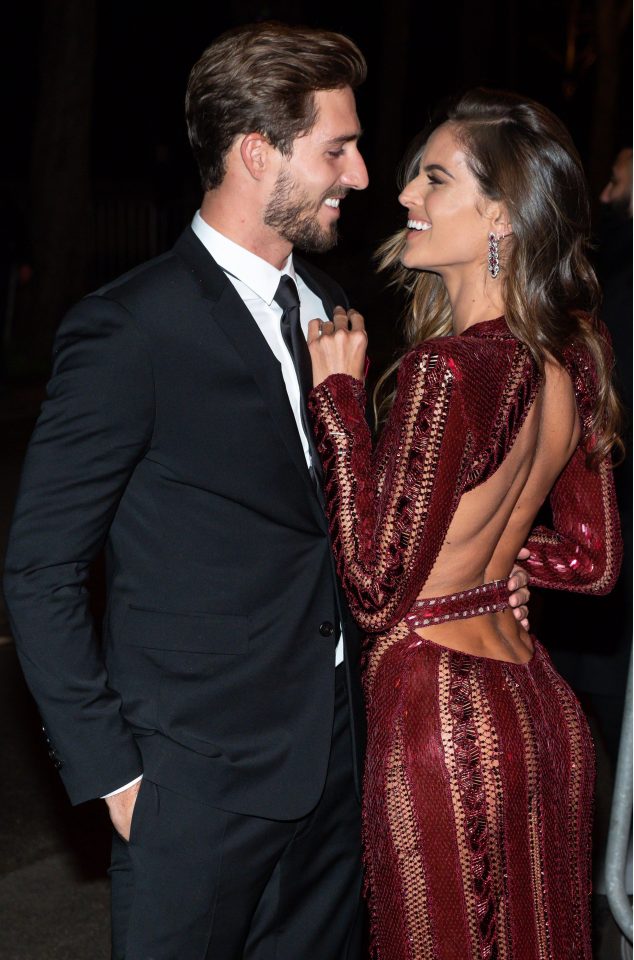
[[[327,309],[343,301],[296,269]],[[104,546],[100,642],[86,582]],[[190,229],[62,322],[5,594],[74,803],[144,770],[235,812],[307,813],[339,613],[360,751],[357,633],[280,366]]]

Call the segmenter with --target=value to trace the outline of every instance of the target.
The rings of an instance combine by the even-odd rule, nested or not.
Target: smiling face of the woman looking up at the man
[[[419,173],[399,201],[408,211],[404,266],[445,277],[486,269],[489,233],[504,230],[494,226],[496,211],[492,219],[491,204],[479,192],[450,123],[425,144]]]

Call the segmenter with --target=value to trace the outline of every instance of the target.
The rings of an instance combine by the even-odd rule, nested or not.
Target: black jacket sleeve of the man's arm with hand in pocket
[[[142,333],[118,303],[83,300],[56,338],[4,577],[18,655],[73,803],[142,772],[119,697],[108,686],[86,585],[153,419]]]

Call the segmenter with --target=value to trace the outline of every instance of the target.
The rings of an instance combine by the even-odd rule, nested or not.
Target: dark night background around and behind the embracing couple
[[[256,19],[306,23],[348,34],[367,57],[358,107],[370,188],[350,196],[339,246],[318,262],[366,315],[374,375],[398,347],[402,304],[373,272],[372,255],[403,224],[395,171],[439,100],[487,85],[545,103],[571,129],[596,211],[616,151],[631,146],[631,2],[382,0],[373,10],[342,0],[24,0],[10,17],[5,11],[2,554],[63,312],[98,284],[169,247],[198,206],[184,92],[192,64],[223,30]],[[631,497],[624,521],[629,529]],[[631,637],[631,563],[612,597],[534,596],[531,619],[593,725],[598,864]],[[70,810],[48,764],[1,600],[0,724],[0,954],[7,960],[105,958],[104,805]],[[605,904],[597,902],[596,956],[607,960],[618,947],[608,943],[614,931],[606,933]]]

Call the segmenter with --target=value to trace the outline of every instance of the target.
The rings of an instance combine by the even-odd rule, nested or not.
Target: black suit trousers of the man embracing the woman
[[[113,838],[113,960],[360,960],[360,809],[343,668],[315,809],[276,821],[144,779],[130,842]]]

